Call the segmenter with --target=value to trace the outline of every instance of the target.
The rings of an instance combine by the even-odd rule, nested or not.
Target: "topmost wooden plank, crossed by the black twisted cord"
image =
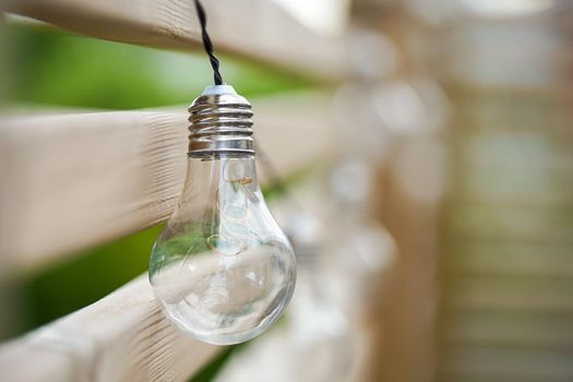
[[[8,0],[2,4],[8,12],[98,38],[200,48],[199,22],[189,0]],[[339,77],[344,71],[344,44],[308,29],[274,1],[204,1],[204,7],[217,50],[323,79]]]

